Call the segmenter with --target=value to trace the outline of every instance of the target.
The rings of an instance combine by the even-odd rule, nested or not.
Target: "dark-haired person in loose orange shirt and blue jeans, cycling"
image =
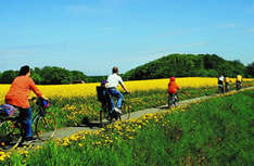
[[[28,102],[30,91],[34,91],[37,97],[46,99],[30,78],[30,67],[25,65],[21,67],[18,76],[12,81],[10,89],[5,94],[5,103],[20,110],[22,128],[25,131],[24,140],[26,141],[34,139],[31,129],[31,108]]]

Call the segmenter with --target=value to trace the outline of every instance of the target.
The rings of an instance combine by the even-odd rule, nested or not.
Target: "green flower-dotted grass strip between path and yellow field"
[[[217,88],[186,88],[179,91],[179,99],[186,100],[205,94],[216,93]],[[136,112],[143,108],[156,107],[165,105],[167,103],[167,91],[166,90],[150,90],[150,91],[136,91],[128,95],[125,95],[125,100],[130,104],[130,111]],[[65,105],[75,105],[75,110],[63,110]],[[86,105],[84,108],[82,106]],[[101,110],[101,103],[96,97],[81,98],[52,98],[51,108],[58,118],[58,126],[76,126],[78,123],[86,117],[89,120],[98,120],[99,112]],[[77,113],[73,118],[67,116],[74,112],[82,111]]]

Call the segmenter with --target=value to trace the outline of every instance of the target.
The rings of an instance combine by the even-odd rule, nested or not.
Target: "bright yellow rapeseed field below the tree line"
[[[253,79],[244,79],[253,80]],[[169,78],[166,79],[149,79],[149,80],[132,80],[125,81],[126,87],[130,92],[137,90],[167,89]],[[217,86],[217,78],[208,77],[185,77],[176,79],[180,88],[200,88]],[[234,79],[231,79],[234,84]],[[40,91],[48,98],[59,97],[91,97],[96,95],[96,87],[100,84],[78,84],[78,85],[53,85],[38,86]],[[10,85],[0,85],[0,102],[3,102],[4,95],[8,92]],[[120,89],[120,86],[118,87]]]

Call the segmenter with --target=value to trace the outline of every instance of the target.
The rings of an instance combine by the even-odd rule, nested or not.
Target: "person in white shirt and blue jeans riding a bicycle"
[[[107,89],[109,89],[110,94],[112,97],[117,98],[116,107],[115,107],[114,99],[111,98],[112,110],[122,114],[120,106],[122,106],[122,102],[124,100],[124,95],[117,90],[118,84],[120,84],[120,86],[123,87],[123,89],[126,92],[129,92],[129,91],[126,89],[122,77],[118,75],[118,68],[116,66],[113,67],[112,74],[107,77],[106,81],[109,82]]]

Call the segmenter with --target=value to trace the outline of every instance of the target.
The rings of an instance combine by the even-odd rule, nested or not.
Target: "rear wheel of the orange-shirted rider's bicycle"
[[[22,142],[21,124],[13,120],[0,122],[0,150],[15,149]]]

